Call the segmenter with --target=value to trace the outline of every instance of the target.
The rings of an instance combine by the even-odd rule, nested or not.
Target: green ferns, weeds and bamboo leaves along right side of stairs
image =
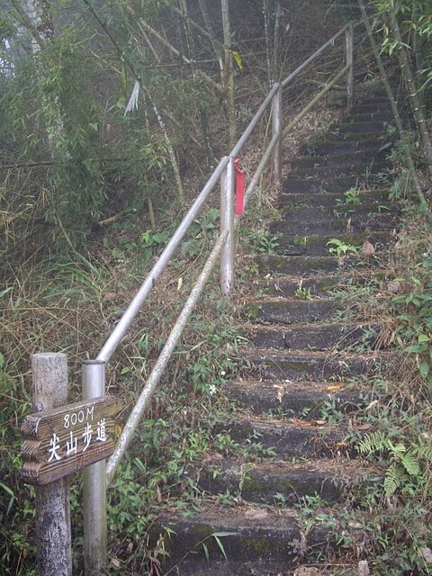
[[[402,80],[430,110],[426,89],[432,66],[430,43],[426,40],[432,31],[430,5],[386,1],[373,4],[375,30],[383,34],[383,52],[399,64],[400,52],[405,52],[415,74],[413,84],[407,82],[404,74]],[[399,34],[395,22],[399,23]],[[425,115],[423,120],[426,118]],[[424,135],[416,131],[410,132],[409,141],[420,179],[430,192],[428,143],[425,147]],[[402,152],[399,146],[390,157],[396,166],[390,194],[398,199],[407,197],[410,181],[406,172],[401,172]],[[430,202],[430,193],[427,199]],[[335,251],[349,250],[337,238],[331,245]],[[355,517],[347,518],[345,527],[338,527],[338,535],[344,533],[344,528],[346,535],[350,527],[358,528],[356,535],[345,536],[345,545],[355,552],[367,549],[369,566],[377,574],[426,575],[432,562],[431,247],[430,213],[422,213],[409,202],[401,234],[388,255],[385,277],[362,286],[353,285],[346,295],[348,310],[383,324],[380,342],[398,356],[400,366],[390,380],[374,378],[374,395],[351,420],[358,453],[376,466],[377,476],[373,482],[366,482],[362,491],[354,491],[358,505]],[[328,417],[323,414],[323,418]],[[306,518],[311,518],[313,509],[316,506],[306,505]],[[330,520],[323,518],[325,522]]]

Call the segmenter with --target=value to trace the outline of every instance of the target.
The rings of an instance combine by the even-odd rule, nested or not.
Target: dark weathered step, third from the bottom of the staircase
[[[314,421],[268,419],[238,414],[233,419],[220,419],[213,425],[214,434],[226,434],[235,442],[247,443],[257,453],[264,449],[275,458],[322,458],[331,455],[354,454],[354,446],[346,442],[347,428]]]

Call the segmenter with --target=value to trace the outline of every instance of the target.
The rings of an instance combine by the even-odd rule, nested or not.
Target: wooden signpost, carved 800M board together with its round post
[[[96,365],[103,373],[103,363],[84,364]],[[72,576],[69,475],[83,468],[86,473],[112,455],[114,418],[121,411],[121,401],[102,396],[103,391],[94,394],[99,398],[67,405],[64,354],[35,354],[31,368],[37,411],[23,421],[22,454],[23,480],[36,485],[37,574]],[[101,491],[104,493],[104,484]],[[101,529],[95,518],[85,520],[85,527],[87,536]],[[102,548],[97,551],[101,556]]]

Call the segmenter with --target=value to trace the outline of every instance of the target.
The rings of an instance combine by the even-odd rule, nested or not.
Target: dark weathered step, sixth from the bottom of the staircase
[[[383,346],[383,327],[376,323],[320,322],[314,324],[272,326],[244,325],[243,334],[256,347],[288,348],[291,350],[329,350],[342,347]]]

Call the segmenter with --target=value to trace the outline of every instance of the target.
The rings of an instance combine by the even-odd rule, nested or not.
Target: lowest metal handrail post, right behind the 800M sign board
[[[82,370],[83,400],[103,396],[105,363],[101,360],[86,360]],[[104,573],[107,557],[105,461],[87,466],[83,471],[83,480],[85,576],[100,576]]]

